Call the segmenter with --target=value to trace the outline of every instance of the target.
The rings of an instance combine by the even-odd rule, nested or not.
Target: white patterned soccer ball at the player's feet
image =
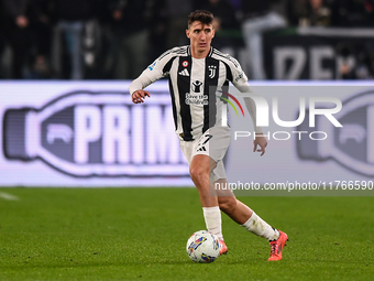
[[[220,255],[219,239],[208,230],[199,230],[188,238],[186,250],[193,261],[209,263]]]

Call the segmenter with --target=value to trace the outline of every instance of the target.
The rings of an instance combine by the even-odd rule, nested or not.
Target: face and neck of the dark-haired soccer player
[[[211,40],[215,36],[213,25],[196,21],[193,22],[186,34],[190,41],[193,56],[206,57],[210,51]]]

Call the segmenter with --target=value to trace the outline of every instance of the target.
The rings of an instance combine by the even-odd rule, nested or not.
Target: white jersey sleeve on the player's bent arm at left
[[[130,86],[129,91],[132,95],[135,90],[144,89],[152,83],[168,75],[169,67],[167,65],[175,57],[174,48],[166,51],[158,56],[142,74],[134,79]]]

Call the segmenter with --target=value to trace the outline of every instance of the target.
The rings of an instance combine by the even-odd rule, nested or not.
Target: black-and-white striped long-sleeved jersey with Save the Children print
[[[219,96],[224,96],[222,87],[229,82],[241,91],[251,91],[235,58],[213,47],[207,57],[194,58],[190,46],[182,46],[166,51],[154,61],[133,80],[130,93],[144,89],[165,76],[169,80],[175,130],[185,141],[199,138],[210,127],[222,126],[222,116],[227,116],[227,112],[222,115],[222,108],[227,110],[227,107]],[[255,125],[255,107],[245,104]],[[261,128],[255,131],[260,132]]]

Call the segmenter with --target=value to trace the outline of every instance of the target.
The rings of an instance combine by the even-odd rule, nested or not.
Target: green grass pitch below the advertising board
[[[0,280],[372,280],[373,197],[240,197],[289,236],[268,262],[263,238],[223,218],[229,253],[189,260],[205,229],[195,188],[0,188]],[[19,199],[6,199],[11,194]]]

